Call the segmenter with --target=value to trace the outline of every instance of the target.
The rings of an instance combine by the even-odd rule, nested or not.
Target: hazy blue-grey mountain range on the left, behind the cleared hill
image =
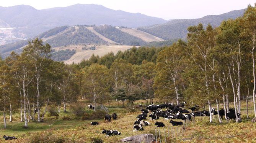
[[[44,10],[36,10],[28,5],[0,6],[0,19],[3,21],[0,24],[5,24],[3,26],[9,24],[10,27],[20,27],[13,30],[13,33],[23,33],[26,38],[32,38],[46,30],[63,25],[111,24],[140,27],[166,22],[161,18],[111,10],[102,5],[94,4],[76,4]]]

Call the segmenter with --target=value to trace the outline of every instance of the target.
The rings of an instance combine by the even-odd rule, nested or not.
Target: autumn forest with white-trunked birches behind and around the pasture
[[[230,104],[241,113],[241,97],[253,96],[255,105],[256,7],[243,16],[227,19],[219,27],[202,24],[188,27],[188,42],[178,40],[161,48],[132,48],[79,64],[65,65],[51,59],[51,45],[41,39],[28,42],[21,55],[12,52],[0,61],[0,109],[19,111],[25,127],[29,119],[40,122],[49,103],[63,106],[88,99],[175,99],[176,103],[209,106]],[[34,108],[38,109],[37,118]],[[40,116],[41,113],[41,116]],[[241,117],[241,116],[240,116]],[[248,108],[247,108],[247,118]],[[218,116],[219,122],[220,117]],[[239,122],[236,114],[236,122]],[[209,122],[212,122],[210,114]]]

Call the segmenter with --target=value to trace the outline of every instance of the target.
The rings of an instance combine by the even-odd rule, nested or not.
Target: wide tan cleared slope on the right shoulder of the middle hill
[[[146,41],[146,42],[152,42],[152,41],[164,41],[163,39],[153,36],[149,33],[137,30],[137,29],[129,29],[129,28],[117,28],[119,30],[121,30],[122,32],[126,32],[130,35],[133,35],[135,37],[139,37],[142,40]]]

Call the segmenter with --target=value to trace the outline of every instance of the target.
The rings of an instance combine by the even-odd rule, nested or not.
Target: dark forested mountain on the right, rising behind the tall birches
[[[224,19],[235,19],[242,16],[245,10],[235,10],[220,15],[209,15],[199,19],[174,19],[164,24],[156,24],[145,27],[139,27],[138,30],[150,33],[156,37],[168,39],[185,39],[187,37],[187,28],[191,25],[202,23],[204,27],[211,24],[213,27],[218,27]]]

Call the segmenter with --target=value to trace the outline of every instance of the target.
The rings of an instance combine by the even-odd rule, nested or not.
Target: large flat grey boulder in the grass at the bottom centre
[[[151,133],[144,133],[141,135],[135,135],[127,138],[121,139],[122,143],[152,143],[155,140],[155,137]]]

